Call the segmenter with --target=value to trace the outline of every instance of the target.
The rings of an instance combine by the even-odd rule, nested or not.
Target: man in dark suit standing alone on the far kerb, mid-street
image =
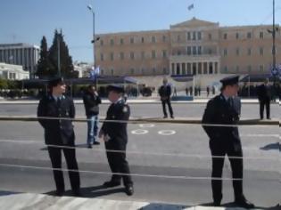
[[[171,118],[174,118],[173,109],[170,104],[171,87],[170,87],[170,85],[168,85],[167,78],[163,79],[163,85],[161,85],[161,87],[159,88],[158,93],[161,98],[164,118],[168,117],[167,110],[166,110],[166,104],[168,105],[168,108],[169,108],[169,116]]]

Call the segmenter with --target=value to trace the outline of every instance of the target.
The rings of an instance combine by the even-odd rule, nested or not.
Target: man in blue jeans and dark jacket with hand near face
[[[87,148],[92,148],[92,145],[100,144],[96,141],[96,135],[98,130],[98,105],[102,103],[98,93],[95,91],[94,85],[88,85],[87,91],[83,96],[83,102],[87,116]]]

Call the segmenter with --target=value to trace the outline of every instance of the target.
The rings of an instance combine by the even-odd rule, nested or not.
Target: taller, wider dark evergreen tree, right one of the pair
[[[58,68],[58,46],[60,50],[60,71]],[[49,49],[49,61],[51,62],[52,69],[50,70],[50,76],[62,76],[66,78],[78,77],[78,74],[74,71],[72,58],[69,54],[69,48],[63,40],[62,30],[60,33],[55,29],[53,44]]]

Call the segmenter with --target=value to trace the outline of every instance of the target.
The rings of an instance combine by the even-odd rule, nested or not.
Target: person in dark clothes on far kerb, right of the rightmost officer
[[[266,79],[264,83],[258,87],[258,98],[260,102],[260,119],[263,119],[264,107],[266,107],[267,119],[270,119],[271,89],[269,86],[269,79]]]

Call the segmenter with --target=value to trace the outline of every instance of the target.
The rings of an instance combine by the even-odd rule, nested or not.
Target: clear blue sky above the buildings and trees
[[[62,29],[73,61],[93,61],[95,34],[155,29],[190,20],[219,22],[219,26],[272,24],[272,0],[0,0],[0,44],[50,46],[54,29]],[[194,9],[187,7],[194,4]],[[276,0],[281,25],[281,0]]]

